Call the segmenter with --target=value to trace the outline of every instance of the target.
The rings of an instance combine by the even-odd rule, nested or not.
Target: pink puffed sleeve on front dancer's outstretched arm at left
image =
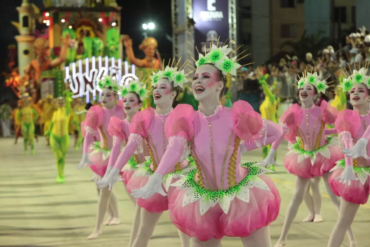
[[[156,173],[165,176],[189,155],[188,141],[194,137],[194,114],[192,106],[179,104],[167,117],[164,129],[168,146]]]

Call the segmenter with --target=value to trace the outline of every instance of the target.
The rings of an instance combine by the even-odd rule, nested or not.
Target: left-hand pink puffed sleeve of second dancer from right
[[[285,134],[285,140],[296,142],[296,129],[300,124],[301,118],[302,108],[298,104],[290,106],[280,117],[280,122],[288,128],[288,131]]]

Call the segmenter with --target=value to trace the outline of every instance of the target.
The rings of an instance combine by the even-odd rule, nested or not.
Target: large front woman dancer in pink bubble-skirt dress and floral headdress
[[[226,75],[240,67],[232,49],[216,47],[196,62],[192,89],[199,111],[178,105],[165,124],[167,150],[148,183],[133,190],[135,198],[164,194],[163,177],[191,150],[196,169],[187,171],[169,197],[172,223],[191,238],[192,247],[219,246],[224,236],[241,237],[243,246],[270,247],[269,224],[280,208],[279,192],[269,170],[241,163],[240,149],[265,146],[282,136],[283,128],[262,119],[245,101],[220,105]]]

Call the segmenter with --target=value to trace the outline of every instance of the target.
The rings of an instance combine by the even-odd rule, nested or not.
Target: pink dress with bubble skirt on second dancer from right
[[[310,109],[293,104],[283,113],[280,122],[288,128],[285,140],[293,143],[284,158],[284,167],[289,173],[302,178],[321,177],[344,157],[337,142],[326,137],[330,130],[325,130],[325,126],[333,124],[337,114],[338,111],[324,100],[320,107]],[[272,148],[276,146],[274,143]]]

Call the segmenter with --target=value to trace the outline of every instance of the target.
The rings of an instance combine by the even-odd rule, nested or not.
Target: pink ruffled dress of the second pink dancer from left
[[[114,166],[117,161],[118,155],[122,151],[125,144],[128,142],[128,137],[130,135],[130,122],[126,119],[121,120],[118,117],[111,117],[108,125],[108,133],[113,137],[113,146],[111,149],[108,166]],[[148,156],[148,149],[144,148],[144,152],[139,153],[135,151],[135,154],[130,158],[130,160],[123,167],[121,174],[123,178],[123,183],[127,185],[128,181],[134,175],[137,165],[145,161],[145,156]]]

